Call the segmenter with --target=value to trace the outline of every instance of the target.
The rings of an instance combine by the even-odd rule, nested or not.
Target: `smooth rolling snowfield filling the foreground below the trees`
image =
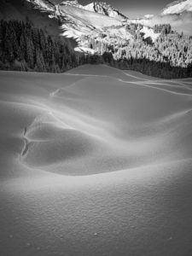
[[[189,255],[192,79],[0,77],[2,255]]]

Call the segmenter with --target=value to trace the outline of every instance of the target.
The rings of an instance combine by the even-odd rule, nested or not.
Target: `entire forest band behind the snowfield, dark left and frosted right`
[[[133,33],[134,27],[130,28]],[[1,20],[0,69],[61,73],[83,64],[105,63],[163,79],[192,77],[192,38],[165,30],[170,32],[170,26],[155,26],[155,31],[163,32],[154,42],[135,30],[134,40],[119,48],[88,38],[96,55],[84,55],[76,53],[67,39],[46,35],[29,20]]]

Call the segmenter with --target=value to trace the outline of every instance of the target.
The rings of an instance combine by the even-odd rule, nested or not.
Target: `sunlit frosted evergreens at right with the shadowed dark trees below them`
[[[88,47],[101,54],[111,66],[136,70],[154,77],[178,79],[192,77],[192,38],[172,32],[169,24],[154,26],[160,36],[153,42],[143,38],[141,25],[129,24],[134,39],[114,47],[104,41],[88,38]],[[97,58],[98,60],[98,58]]]

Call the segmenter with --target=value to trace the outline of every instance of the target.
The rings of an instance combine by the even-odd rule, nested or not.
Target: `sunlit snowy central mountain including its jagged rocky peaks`
[[[45,0],[26,1],[32,3],[36,9],[48,12],[49,18],[59,20],[61,34],[67,38],[75,38],[79,44],[76,49],[79,51],[91,54],[98,52],[97,49],[90,48],[91,40],[119,47],[128,44],[132,38],[131,34],[125,31],[122,22],[125,16],[120,16],[119,12],[107,3],[94,3],[94,6],[90,3],[83,6],[78,1],[64,1],[55,5]]]

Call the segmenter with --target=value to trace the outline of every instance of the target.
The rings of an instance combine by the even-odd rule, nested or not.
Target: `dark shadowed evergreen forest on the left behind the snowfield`
[[[47,36],[29,20],[0,21],[0,69],[59,73],[83,62],[67,41]]]

